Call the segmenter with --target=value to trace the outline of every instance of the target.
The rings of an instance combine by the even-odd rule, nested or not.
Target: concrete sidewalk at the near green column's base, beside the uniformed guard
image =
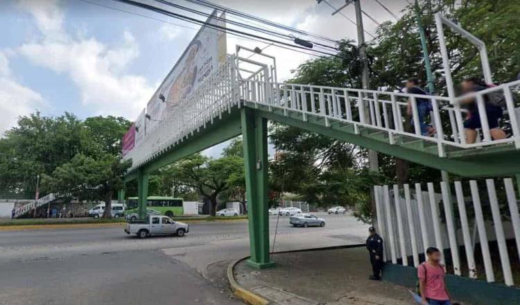
[[[274,254],[272,260],[277,267],[267,270],[241,261],[234,278],[273,304],[415,304],[406,288],[368,279],[365,247]]]

